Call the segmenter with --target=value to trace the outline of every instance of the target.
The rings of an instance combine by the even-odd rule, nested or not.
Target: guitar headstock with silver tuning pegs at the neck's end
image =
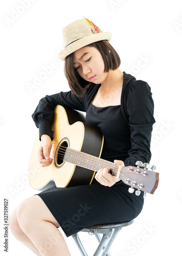
[[[137,166],[123,166],[120,173],[120,179],[131,186],[129,187],[129,193],[134,192],[134,188],[137,188],[135,194],[140,195],[141,190],[146,193],[153,194],[158,186],[159,174],[155,173],[155,165],[149,165],[148,163],[142,163],[137,161]]]

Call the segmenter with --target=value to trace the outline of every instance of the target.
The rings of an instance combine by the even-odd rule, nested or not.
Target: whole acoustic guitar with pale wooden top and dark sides
[[[140,195],[141,190],[153,194],[157,188],[159,174],[148,163],[137,162],[138,166],[121,166],[100,159],[103,135],[98,127],[84,123],[81,112],[57,105],[52,131],[54,134],[50,157],[53,162],[41,167],[37,158],[40,144],[37,133],[29,162],[29,183],[32,188],[41,190],[49,186],[71,187],[91,184],[95,173],[110,168],[112,176],[120,178],[129,187],[129,192]],[[51,185],[50,185],[51,184]]]

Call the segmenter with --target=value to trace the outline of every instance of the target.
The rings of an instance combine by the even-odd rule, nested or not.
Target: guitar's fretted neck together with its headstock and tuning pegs
[[[152,170],[139,168],[138,166],[122,167],[98,157],[73,150],[70,147],[66,148],[63,161],[94,170],[95,172],[105,167],[110,168],[109,173],[112,176],[120,178],[125,184],[131,186],[130,193],[133,193],[134,187],[153,194],[158,185],[158,173]]]

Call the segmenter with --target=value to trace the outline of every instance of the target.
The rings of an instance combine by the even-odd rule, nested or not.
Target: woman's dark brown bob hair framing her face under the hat
[[[97,41],[87,47],[97,48],[103,58],[105,70],[115,70],[119,68],[121,60],[118,53],[107,41]],[[86,89],[90,86],[90,82],[84,80],[73,66],[73,54],[71,53],[65,58],[64,73],[69,83],[71,91],[77,96],[83,96]]]

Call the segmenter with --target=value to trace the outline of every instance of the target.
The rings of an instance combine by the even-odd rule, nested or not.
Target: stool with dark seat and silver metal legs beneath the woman
[[[126,221],[126,222],[119,222],[119,223],[113,223],[113,224],[101,224],[101,225],[95,225],[92,227],[86,227],[82,229],[80,232],[88,232],[89,234],[95,234],[99,246],[97,247],[96,252],[94,253],[94,256],[99,256],[101,250],[103,250],[101,255],[104,256],[111,256],[108,252],[110,246],[112,245],[113,241],[115,240],[117,234],[122,229],[122,227],[129,226],[132,224],[134,220]],[[102,238],[100,237],[99,233],[103,234]],[[83,256],[88,256],[80,239],[78,236],[78,233],[73,234],[73,239],[75,240],[78,248],[80,249]],[[108,240],[107,244],[105,245],[106,241]]]

